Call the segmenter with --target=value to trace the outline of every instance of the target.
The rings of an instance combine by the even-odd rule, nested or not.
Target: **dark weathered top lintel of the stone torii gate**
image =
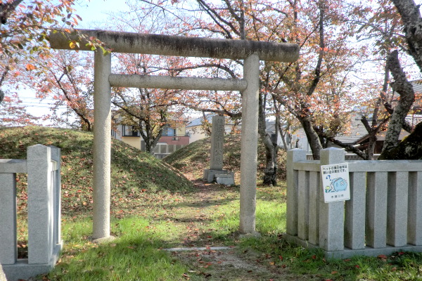
[[[151,55],[179,55],[202,58],[245,59],[257,54],[260,60],[292,63],[298,60],[297,44],[250,40],[178,37],[162,34],[140,34],[107,30],[76,30],[80,34],[96,37],[116,53],[144,53]],[[87,41],[79,39],[77,32],[51,32],[51,48],[91,51]],[[81,41],[80,48],[70,48],[69,42]]]

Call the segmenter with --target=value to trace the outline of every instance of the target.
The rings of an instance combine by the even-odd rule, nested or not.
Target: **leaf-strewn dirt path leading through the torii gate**
[[[318,280],[309,275],[293,275],[282,266],[262,261],[260,254],[252,251],[239,252],[236,247],[215,250],[214,247],[222,244],[207,240],[207,233],[203,232],[207,227],[207,211],[214,204],[221,204],[224,200],[237,196],[237,190],[204,183],[193,179],[190,174],[186,177],[196,185],[197,192],[191,202],[187,202],[191,204],[191,211],[187,213],[191,212],[194,219],[184,221],[188,229],[180,247],[205,247],[203,250],[172,251],[175,258],[189,265],[189,272],[184,276],[186,280]],[[184,214],[185,218],[188,216],[189,214]]]

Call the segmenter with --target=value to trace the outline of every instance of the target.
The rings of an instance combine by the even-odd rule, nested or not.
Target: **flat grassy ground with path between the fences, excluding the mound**
[[[117,240],[94,244],[91,221],[65,221],[65,250],[44,280],[421,280],[422,255],[326,260],[321,251],[288,244],[285,187],[258,187],[257,230],[236,235],[238,188],[198,184],[162,198],[138,215],[112,221]],[[212,247],[228,246],[227,250]],[[205,247],[174,251],[173,247]]]

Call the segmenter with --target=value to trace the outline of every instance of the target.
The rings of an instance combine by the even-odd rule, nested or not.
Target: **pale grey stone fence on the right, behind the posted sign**
[[[422,251],[422,161],[346,161],[338,148],[321,161],[289,150],[287,161],[287,240],[335,258]],[[348,164],[350,200],[325,203],[321,165],[339,163]]]

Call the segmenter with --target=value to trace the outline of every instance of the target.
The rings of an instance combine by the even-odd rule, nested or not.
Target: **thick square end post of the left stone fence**
[[[51,161],[51,155],[55,160]],[[60,149],[44,145],[27,148],[28,263],[54,264],[60,241]],[[56,172],[58,170],[58,172]],[[56,192],[54,191],[56,183]],[[56,204],[55,204],[56,203]]]

